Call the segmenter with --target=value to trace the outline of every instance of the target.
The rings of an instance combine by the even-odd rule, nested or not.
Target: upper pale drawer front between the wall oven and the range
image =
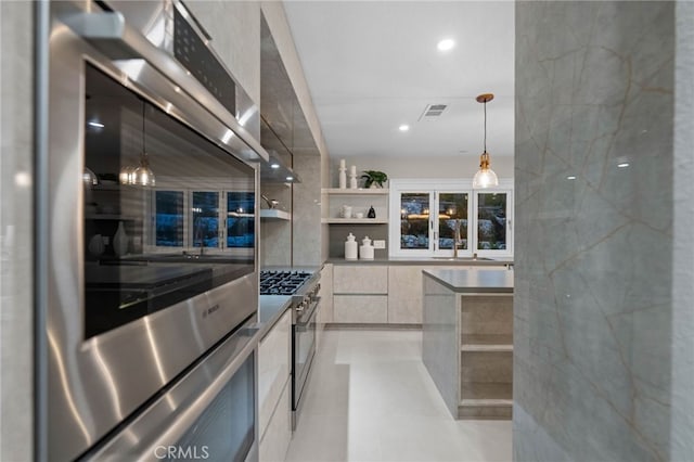
[[[287,310],[258,347],[258,428],[264,434],[290,380],[292,312]]]

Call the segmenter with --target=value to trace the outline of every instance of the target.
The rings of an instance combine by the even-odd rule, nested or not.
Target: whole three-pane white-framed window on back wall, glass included
[[[389,254],[511,257],[512,198],[509,180],[479,191],[470,180],[391,180]]]

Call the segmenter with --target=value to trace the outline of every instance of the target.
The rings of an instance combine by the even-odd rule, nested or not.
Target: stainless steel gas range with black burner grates
[[[316,319],[320,306],[320,272],[305,270],[260,271],[260,295],[292,297],[292,428],[301,408],[313,356],[316,355]]]

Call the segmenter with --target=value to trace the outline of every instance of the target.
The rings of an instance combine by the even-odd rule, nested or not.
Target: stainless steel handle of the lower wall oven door
[[[256,349],[258,333],[254,325],[236,331],[87,460],[151,461],[156,458],[157,448],[176,445]],[[256,375],[254,372],[254,383]]]

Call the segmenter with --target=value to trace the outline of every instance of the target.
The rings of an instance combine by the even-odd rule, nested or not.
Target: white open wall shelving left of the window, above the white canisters
[[[323,189],[327,195],[327,206],[323,208],[324,223],[352,223],[352,224],[385,224],[388,222],[388,190],[381,188],[340,190],[337,188]],[[342,216],[343,205],[351,207],[352,215],[363,214],[363,218]],[[373,206],[376,218],[367,218],[369,208]]]

